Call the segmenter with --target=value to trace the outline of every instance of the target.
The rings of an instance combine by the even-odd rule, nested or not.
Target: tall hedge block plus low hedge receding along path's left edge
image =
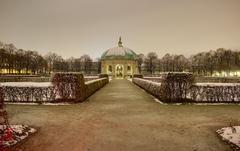
[[[82,102],[95,91],[108,83],[105,75],[99,75],[100,79],[84,82],[81,73],[55,73],[52,76],[54,92],[59,96],[59,101]],[[104,78],[102,78],[104,77]]]

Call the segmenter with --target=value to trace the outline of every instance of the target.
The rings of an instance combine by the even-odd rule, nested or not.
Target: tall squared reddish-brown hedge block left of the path
[[[80,73],[54,73],[51,80],[59,101],[83,101],[85,84]]]

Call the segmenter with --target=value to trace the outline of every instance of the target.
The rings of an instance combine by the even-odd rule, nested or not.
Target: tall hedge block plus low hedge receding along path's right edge
[[[194,77],[190,73],[166,73],[162,75],[161,83],[141,78],[133,78],[133,82],[163,102],[183,102],[189,101],[187,94],[194,83]]]

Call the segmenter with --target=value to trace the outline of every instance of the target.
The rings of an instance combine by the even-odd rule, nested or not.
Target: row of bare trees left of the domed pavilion
[[[13,44],[0,43],[0,74],[46,75],[51,72],[99,73],[100,61],[93,62],[89,55],[63,59],[56,53],[45,56],[36,51],[17,49]]]

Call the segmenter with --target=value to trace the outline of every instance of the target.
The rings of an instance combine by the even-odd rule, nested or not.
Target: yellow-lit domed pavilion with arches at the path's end
[[[138,73],[137,54],[123,47],[121,37],[118,47],[110,48],[102,54],[101,73],[113,78],[127,78]]]

